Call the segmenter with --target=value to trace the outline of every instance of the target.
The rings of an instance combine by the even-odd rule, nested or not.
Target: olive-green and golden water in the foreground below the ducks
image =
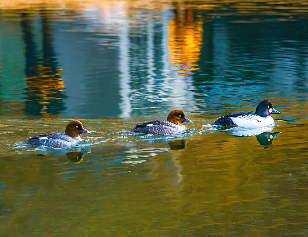
[[[48,122],[1,121],[3,236],[307,235],[306,124],[278,121],[260,145],[204,120],[164,139],[126,134],[128,119],[86,120],[96,132],[79,146],[14,148],[65,124],[34,123]]]

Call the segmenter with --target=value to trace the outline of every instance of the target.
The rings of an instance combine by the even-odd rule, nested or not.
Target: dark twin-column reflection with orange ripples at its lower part
[[[32,15],[21,13],[21,27],[25,42],[26,107],[28,115],[59,114],[65,110],[64,82],[56,60],[53,44],[52,19],[39,12],[40,25]],[[36,45],[41,30],[41,51]]]

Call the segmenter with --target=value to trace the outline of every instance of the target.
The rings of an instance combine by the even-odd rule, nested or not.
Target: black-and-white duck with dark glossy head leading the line
[[[270,114],[280,114],[274,109],[269,100],[261,101],[256,109],[256,112],[239,112],[228,114],[218,118],[214,123],[202,125],[202,127],[245,127],[245,128],[259,128],[265,127],[274,123],[274,119]]]

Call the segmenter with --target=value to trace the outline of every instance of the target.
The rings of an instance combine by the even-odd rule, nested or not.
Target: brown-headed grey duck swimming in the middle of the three
[[[138,124],[131,132],[154,133],[158,135],[173,135],[185,129],[183,122],[193,122],[185,117],[182,110],[172,110],[167,120],[155,120],[147,123]]]

